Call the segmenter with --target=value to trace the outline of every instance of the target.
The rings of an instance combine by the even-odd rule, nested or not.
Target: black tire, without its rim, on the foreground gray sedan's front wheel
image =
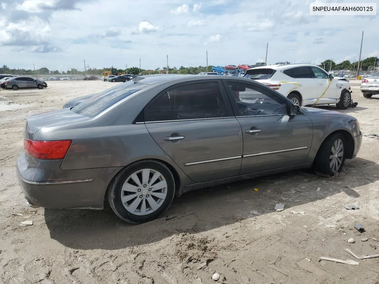
[[[341,164],[337,170],[332,171],[330,167],[330,157],[332,156],[332,146],[337,140],[341,140],[343,145],[343,156],[341,159]],[[346,143],[345,138],[341,133],[334,133],[328,136],[323,144],[321,144],[318,152],[316,154],[315,161],[313,162],[313,169],[319,176],[334,176],[336,172],[340,173],[342,171],[343,165],[345,164],[346,158]]]

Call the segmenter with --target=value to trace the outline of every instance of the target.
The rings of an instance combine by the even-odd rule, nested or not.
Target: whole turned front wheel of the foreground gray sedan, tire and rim
[[[320,176],[333,176],[340,173],[345,163],[345,138],[341,133],[327,137],[318,149],[313,168]]]

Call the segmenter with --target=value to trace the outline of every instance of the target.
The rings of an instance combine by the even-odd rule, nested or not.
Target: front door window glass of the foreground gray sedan
[[[288,114],[285,100],[268,90],[233,81],[227,85],[238,107],[236,116]]]

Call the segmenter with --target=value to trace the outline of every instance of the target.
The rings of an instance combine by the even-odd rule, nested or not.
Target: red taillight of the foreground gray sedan
[[[63,159],[71,142],[71,140],[35,141],[24,139],[24,149],[25,153],[36,159]]]

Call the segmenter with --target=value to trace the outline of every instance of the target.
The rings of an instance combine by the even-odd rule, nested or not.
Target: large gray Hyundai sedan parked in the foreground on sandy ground
[[[72,108],[28,117],[17,175],[31,206],[160,216],[174,195],[313,167],[341,172],[359,151],[354,117],[305,108],[256,81],[152,75]]]

